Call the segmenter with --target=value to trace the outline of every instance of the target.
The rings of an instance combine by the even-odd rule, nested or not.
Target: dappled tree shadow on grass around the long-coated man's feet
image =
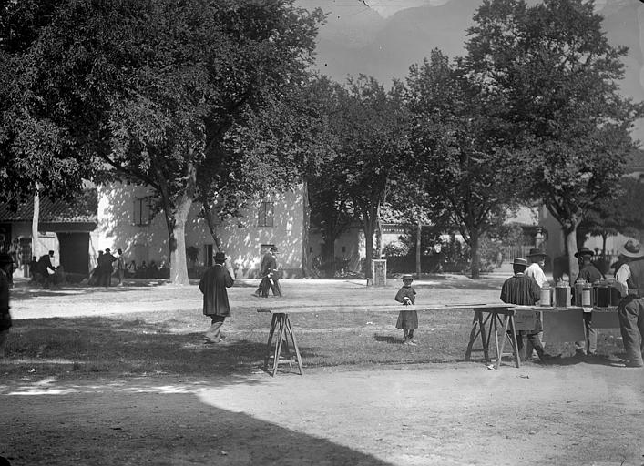
[[[7,339],[7,358],[0,361],[0,372],[13,380],[26,373],[62,379],[142,374],[243,378],[263,368],[265,331],[235,332],[224,342],[209,345],[204,344],[202,327],[179,328],[181,324],[185,326],[172,319],[19,320]],[[316,356],[307,346],[300,351],[302,359]]]

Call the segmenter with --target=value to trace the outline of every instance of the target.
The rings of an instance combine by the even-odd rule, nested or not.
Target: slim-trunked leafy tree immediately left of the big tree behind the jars
[[[490,95],[461,60],[434,50],[410,68],[407,100],[414,116],[415,185],[440,199],[471,249],[471,274],[479,278],[479,241],[506,217],[524,193],[525,159],[512,157],[492,117],[502,99]]]

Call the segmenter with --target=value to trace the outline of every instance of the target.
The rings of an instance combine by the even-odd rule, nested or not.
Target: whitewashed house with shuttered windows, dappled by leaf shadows
[[[114,183],[98,187],[97,249],[122,248],[127,262],[168,267],[168,228],[145,186]],[[220,223],[217,234],[238,278],[256,278],[263,253],[276,246],[285,277],[302,277],[304,207],[302,187],[257,198],[240,218]],[[199,268],[212,265],[217,248],[208,224],[193,204],[186,224],[186,248],[195,248]],[[192,265],[192,264],[190,264]]]

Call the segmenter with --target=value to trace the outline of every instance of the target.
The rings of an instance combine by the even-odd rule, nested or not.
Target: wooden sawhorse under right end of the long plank
[[[483,350],[483,356],[486,361],[489,362],[490,339],[492,339],[492,332],[494,331],[496,349],[495,369],[499,368],[499,366],[501,365],[501,360],[503,360],[504,356],[514,356],[516,367],[520,367],[521,361],[519,359],[518,345],[516,343],[516,311],[514,309],[514,306],[499,306],[498,308],[473,308],[473,310],[474,319],[472,319],[472,331],[470,332],[470,340],[467,344],[467,350],[465,351],[465,360],[470,360],[473,350]],[[484,313],[486,314],[485,318],[483,316]],[[503,319],[501,319],[501,316],[503,316]],[[503,332],[500,346],[498,341],[499,324]],[[508,329],[511,331],[510,335],[507,334]],[[473,349],[476,338],[479,335],[481,336],[481,343],[483,344],[483,348]],[[510,345],[512,346],[512,352],[510,353],[504,352],[506,339],[510,339]]]

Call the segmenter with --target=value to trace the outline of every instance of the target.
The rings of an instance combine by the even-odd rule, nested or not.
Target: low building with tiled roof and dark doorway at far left
[[[97,228],[97,189],[85,189],[71,201],[40,198],[38,215],[38,254],[55,251],[55,265],[67,273],[87,275],[91,267],[92,235]],[[9,251],[17,244],[24,263],[34,255],[31,226],[34,203],[27,202],[11,208],[0,204],[0,248]],[[21,264],[15,273],[26,274]]]

